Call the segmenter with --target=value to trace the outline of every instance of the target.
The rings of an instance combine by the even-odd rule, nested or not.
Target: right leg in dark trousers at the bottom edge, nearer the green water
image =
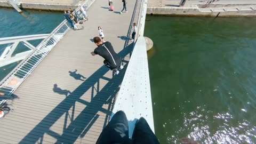
[[[135,125],[133,135],[133,143],[159,143],[156,135],[150,129],[145,118],[141,117]]]

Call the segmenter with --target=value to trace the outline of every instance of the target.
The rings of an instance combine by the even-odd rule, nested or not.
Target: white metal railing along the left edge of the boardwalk
[[[94,1],[95,0],[87,0],[82,6],[86,7],[85,10],[87,10]],[[78,12],[80,9],[80,7],[77,7],[75,11]],[[20,63],[20,65],[14,68],[14,70],[12,70],[11,73],[0,82],[0,92],[11,95],[19,87],[19,85],[25,81],[25,79],[46,57],[46,55],[53,49],[53,47],[60,41],[60,39],[67,33],[69,29],[70,25],[67,20],[62,21],[60,25],[36,47],[36,50],[31,52],[31,54]]]

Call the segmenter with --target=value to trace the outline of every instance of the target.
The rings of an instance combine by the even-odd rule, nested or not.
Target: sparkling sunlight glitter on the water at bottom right
[[[253,137],[255,133],[254,129],[256,129],[256,127],[250,127],[250,123],[248,121],[243,120],[243,122],[238,123],[237,126],[230,126],[228,121],[229,119],[234,119],[234,116],[230,115],[229,113],[218,113],[217,115],[213,116],[213,120],[218,121],[218,119],[222,119],[224,121],[222,124],[219,124],[217,131],[212,133],[210,130],[211,127],[209,125],[202,124],[210,120],[206,115],[210,115],[212,112],[207,111],[207,113],[202,113],[202,111],[204,111],[202,107],[197,107],[197,110],[191,111],[188,116],[184,115],[184,125],[187,127],[187,129],[191,128],[191,132],[187,135],[188,138],[204,143],[241,143],[244,141],[248,143],[253,142],[251,137]],[[183,131],[186,130],[179,130],[179,132]],[[241,134],[242,131],[245,131],[246,134]],[[175,138],[174,135],[168,139],[170,142],[174,140],[177,141],[177,138]]]

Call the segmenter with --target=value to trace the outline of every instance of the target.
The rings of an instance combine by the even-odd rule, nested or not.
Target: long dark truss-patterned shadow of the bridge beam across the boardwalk
[[[133,44],[125,47],[118,54],[122,57],[130,54],[133,49]],[[39,122],[33,130],[31,130],[19,143],[42,143],[45,134],[51,135],[53,138],[57,139],[56,143],[74,143],[78,137],[83,138],[85,134],[90,130],[94,122],[99,118],[97,114],[99,111],[106,114],[104,121],[104,126],[108,122],[108,118],[111,116],[111,110],[113,109],[113,100],[119,91],[119,85],[122,83],[125,70],[127,68],[127,63],[124,69],[120,73],[114,76],[112,79],[104,77],[104,75],[109,71],[105,66],[100,67],[95,71],[90,77],[88,77],[81,85],[79,85],[73,92],[71,92],[68,97],[66,97],[62,102],[59,103],[46,117]],[[108,79],[108,83],[99,91],[99,79]],[[97,94],[93,94],[94,85],[98,83]],[[92,88],[92,90],[91,90]],[[80,99],[84,93],[87,91],[92,91],[91,102]],[[81,111],[81,113],[74,118],[75,103],[81,102],[86,107]],[[108,109],[102,108],[104,104],[109,104]],[[71,116],[69,115],[69,110],[72,110]],[[90,111],[89,111],[90,110]],[[65,122],[63,124],[62,134],[54,132],[51,130],[51,126],[58,121],[63,115],[65,115]],[[70,118],[70,124],[67,123],[68,118]],[[97,135],[98,136],[98,135]]]

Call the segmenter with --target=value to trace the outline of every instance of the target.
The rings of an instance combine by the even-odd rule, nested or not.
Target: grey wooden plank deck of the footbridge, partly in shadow
[[[139,1],[139,0],[138,0]],[[95,143],[109,121],[133,43],[131,23],[138,21],[140,2],[96,0],[87,11],[83,30],[69,30],[33,73],[15,91],[14,112],[1,119],[1,143]],[[136,9],[134,9],[134,7]],[[135,12],[136,11],[136,12]],[[134,15],[134,19],[133,18]],[[90,54],[96,47],[98,26],[105,41],[124,58],[117,76],[103,66],[103,58]],[[9,101],[10,103],[10,101]]]

